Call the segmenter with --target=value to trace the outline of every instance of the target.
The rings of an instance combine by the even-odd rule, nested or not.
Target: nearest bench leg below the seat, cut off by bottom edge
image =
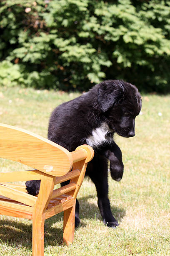
[[[42,215],[32,219],[32,256],[44,256],[44,222]]]

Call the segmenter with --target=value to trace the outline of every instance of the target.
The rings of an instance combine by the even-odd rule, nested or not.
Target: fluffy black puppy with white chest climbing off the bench
[[[116,227],[118,223],[108,199],[108,160],[112,179],[120,181],[123,175],[122,153],[113,141],[113,135],[135,136],[135,117],[140,113],[141,105],[140,93],[134,85],[107,80],[80,97],[61,104],[50,117],[49,140],[69,151],[82,144],[88,144],[95,150],[86,175],[95,184],[98,207],[103,222],[109,227]],[[30,194],[36,195],[40,181],[28,181],[26,186]],[[79,222],[79,203],[76,201],[75,227]]]

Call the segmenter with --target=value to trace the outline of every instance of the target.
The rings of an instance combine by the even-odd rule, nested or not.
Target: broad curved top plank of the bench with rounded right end
[[[0,124],[0,157],[31,166],[52,176],[63,176],[72,168],[67,149],[35,133]]]

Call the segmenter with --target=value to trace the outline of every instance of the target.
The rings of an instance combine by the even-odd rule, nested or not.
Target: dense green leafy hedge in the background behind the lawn
[[[1,84],[170,91],[170,0],[2,0],[0,33]]]

